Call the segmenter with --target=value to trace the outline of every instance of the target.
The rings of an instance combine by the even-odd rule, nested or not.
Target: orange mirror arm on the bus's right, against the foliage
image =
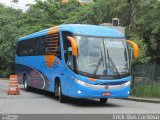
[[[133,56],[134,56],[135,59],[137,59],[138,58],[138,54],[139,54],[138,45],[135,42],[131,41],[131,40],[127,40],[127,43],[133,47],[133,50],[134,50]]]

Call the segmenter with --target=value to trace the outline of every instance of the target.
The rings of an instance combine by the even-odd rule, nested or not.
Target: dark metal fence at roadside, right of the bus
[[[160,84],[160,65],[142,64],[132,66],[133,86]]]

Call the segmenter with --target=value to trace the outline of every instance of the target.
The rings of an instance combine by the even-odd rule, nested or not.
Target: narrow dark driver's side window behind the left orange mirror
[[[67,36],[72,36],[70,32],[62,32],[62,39],[63,39],[63,48],[64,48],[64,57],[65,62],[72,70],[74,69],[74,61],[72,56],[72,48],[71,43],[67,39]]]

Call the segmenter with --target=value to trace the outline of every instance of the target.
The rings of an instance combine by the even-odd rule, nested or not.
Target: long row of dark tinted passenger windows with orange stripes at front
[[[18,56],[56,55],[60,57],[59,34],[32,38],[17,43]]]

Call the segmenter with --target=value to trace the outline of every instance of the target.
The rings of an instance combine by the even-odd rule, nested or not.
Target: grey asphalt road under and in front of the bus
[[[52,93],[32,90],[25,92],[20,86],[20,95],[7,95],[8,80],[0,80],[0,113],[12,114],[123,114],[160,113],[160,104],[109,99],[100,104],[99,100],[69,98],[59,103]]]

